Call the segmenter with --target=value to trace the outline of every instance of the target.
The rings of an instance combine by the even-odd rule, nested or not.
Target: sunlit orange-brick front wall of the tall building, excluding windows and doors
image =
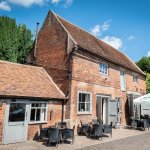
[[[107,63],[109,66],[108,76],[101,75],[99,72],[99,62]],[[126,72],[127,91],[120,90],[120,68],[119,66],[104,61],[100,58],[89,60],[83,56],[77,55],[73,59],[72,64],[72,88],[71,88],[71,123],[79,124],[80,120],[89,122],[96,118],[96,95],[111,95],[112,99],[121,97],[122,99],[122,125],[126,124],[125,107],[127,101],[127,91],[139,92],[143,95],[146,92],[145,77],[139,75],[138,83],[133,83],[133,72],[124,69]],[[136,87],[136,88],[135,88]],[[137,88],[139,89],[137,91]],[[77,114],[77,96],[78,91],[86,91],[92,93],[92,114]]]

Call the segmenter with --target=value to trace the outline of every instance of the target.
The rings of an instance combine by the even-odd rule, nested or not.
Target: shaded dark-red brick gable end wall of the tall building
[[[48,13],[38,34],[36,65],[46,69],[64,94],[68,92],[68,53],[71,43],[56,16],[52,12]]]

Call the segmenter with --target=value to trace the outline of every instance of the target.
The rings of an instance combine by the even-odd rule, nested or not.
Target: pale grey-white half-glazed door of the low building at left
[[[3,144],[27,140],[29,105],[23,101],[7,101]]]

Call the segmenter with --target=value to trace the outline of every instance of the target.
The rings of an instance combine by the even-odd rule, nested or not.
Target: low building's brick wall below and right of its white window
[[[52,118],[50,120],[50,112],[53,111]],[[48,104],[48,122],[45,124],[29,124],[28,125],[28,140],[37,139],[40,128],[49,127],[60,122],[62,119],[62,102],[49,102]]]

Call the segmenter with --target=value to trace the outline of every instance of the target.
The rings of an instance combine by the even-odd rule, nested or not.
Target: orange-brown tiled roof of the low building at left
[[[42,67],[0,61],[0,96],[65,99]]]

